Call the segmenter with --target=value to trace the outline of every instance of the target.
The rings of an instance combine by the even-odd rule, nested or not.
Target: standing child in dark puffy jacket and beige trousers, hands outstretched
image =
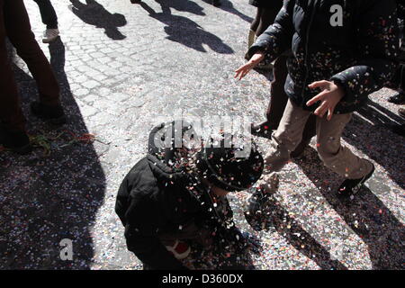
[[[397,67],[398,27],[394,0],[286,0],[284,8],[248,50],[242,78],[264,58],[293,49],[285,92],[289,102],[266,155],[278,171],[302,140],[311,113],[317,118],[317,150],[326,166],[346,178],[341,196],[356,193],[374,165],[341,146],[351,115],[380,89]],[[266,169],[266,170],[267,170]]]

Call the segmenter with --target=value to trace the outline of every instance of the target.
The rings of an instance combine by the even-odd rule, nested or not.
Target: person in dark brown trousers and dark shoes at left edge
[[[27,63],[38,85],[40,101],[31,103],[31,112],[58,125],[65,123],[66,117],[59,99],[58,81],[31,31],[23,0],[0,0],[0,145],[25,154],[31,151],[31,144],[12,63],[7,55],[6,37]]]

